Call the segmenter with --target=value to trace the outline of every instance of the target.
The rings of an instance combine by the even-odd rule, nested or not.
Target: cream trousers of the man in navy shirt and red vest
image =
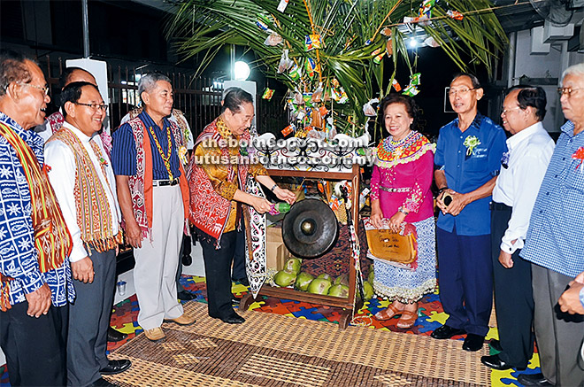
[[[164,319],[184,312],[176,298],[176,269],[182,243],[184,208],[181,186],[152,189],[152,241],[134,249],[134,285],[142,329],[158,328]]]

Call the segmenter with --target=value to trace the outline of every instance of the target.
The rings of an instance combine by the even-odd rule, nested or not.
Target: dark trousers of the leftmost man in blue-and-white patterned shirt
[[[0,347],[12,386],[64,386],[69,306],[50,306],[38,319],[21,302],[0,312]]]

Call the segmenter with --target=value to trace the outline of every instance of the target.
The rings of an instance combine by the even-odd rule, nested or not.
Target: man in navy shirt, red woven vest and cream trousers
[[[181,128],[168,116],[173,86],[164,74],[138,82],[144,110],[113,134],[111,162],[127,243],[134,247],[138,323],[152,341],[165,337],[164,320],[195,322],[176,298],[174,281],[188,219],[188,185],[179,159]]]

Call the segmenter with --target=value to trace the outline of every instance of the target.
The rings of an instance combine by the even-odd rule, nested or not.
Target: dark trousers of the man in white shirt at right
[[[513,253],[513,267],[499,262],[501,238],[511,219],[511,207],[494,203],[491,209],[493,279],[495,283],[496,325],[503,352],[499,357],[514,368],[526,368],[534,354],[534,295],[531,290],[531,263]]]

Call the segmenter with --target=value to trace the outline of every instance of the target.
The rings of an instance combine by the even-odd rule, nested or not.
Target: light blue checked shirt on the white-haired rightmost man
[[[521,257],[557,273],[584,272],[584,162],[572,159],[584,151],[584,133],[573,135],[567,121],[557,139],[548,170],[535,199]]]

